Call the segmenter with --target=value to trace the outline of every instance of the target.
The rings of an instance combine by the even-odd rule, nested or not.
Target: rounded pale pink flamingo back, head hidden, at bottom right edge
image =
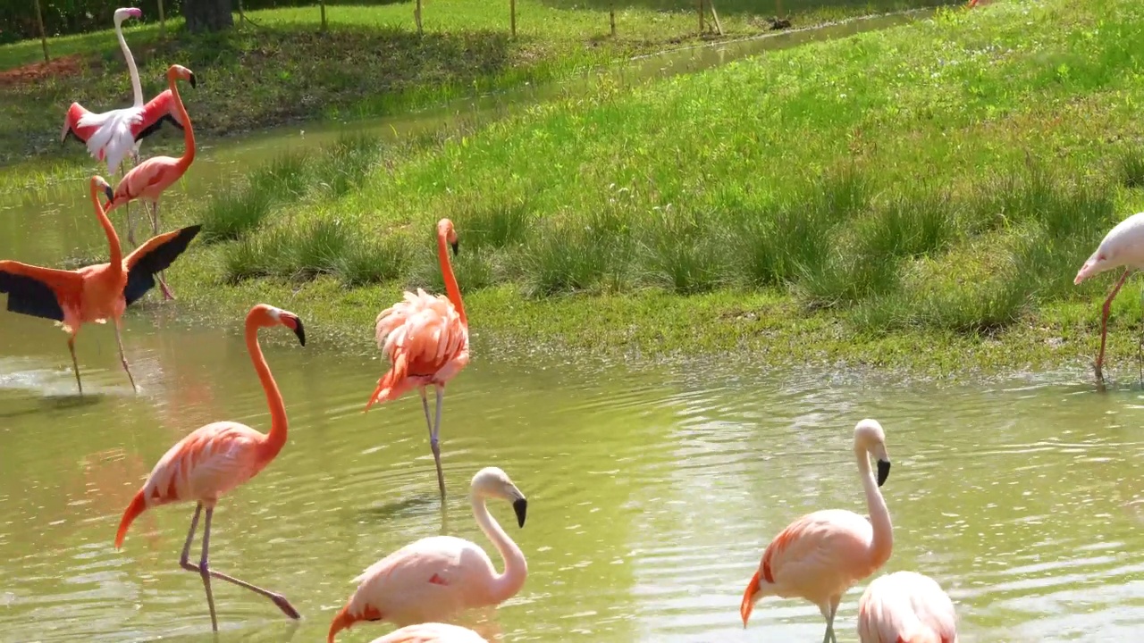
[[[861,643],[958,643],[958,614],[934,579],[895,572],[861,595],[858,637]]]

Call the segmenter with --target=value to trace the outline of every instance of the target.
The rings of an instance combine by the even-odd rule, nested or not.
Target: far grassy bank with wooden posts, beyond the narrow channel
[[[939,0],[794,0],[784,3],[796,26],[872,11],[936,5]],[[610,34],[607,2],[521,0],[517,38],[507,6],[432,0],[419,37],[413,3],[327,8],[319,32],[317,7],[251,11],[256,26],[191,37],[180,19],[159,40],[154,16],[128,21],[126,38],[140,65],[144,94],[164,89],[172,63],[196,71],[186,92],[196,128],[207,136],[316,118],[408,111],[444,101],[569,77],[590,66],[698,41],[693,3],[636,0],[617,7]],[[773,6],[750,0],[718,5],[726,38],[770,29]],[[708,38],[705,35],[702,38]],[[57,59],[41,74],[39,41],[0,47],[0,162],[55,152],[66,106],[79,101],[102,111],[128,105],[130,87],[113,32],[53,39]],[[47,109],[46,109],[47,108]],[[7,118],[7,117],[13,118]],[[71,149],[70,154],[80,157]]]

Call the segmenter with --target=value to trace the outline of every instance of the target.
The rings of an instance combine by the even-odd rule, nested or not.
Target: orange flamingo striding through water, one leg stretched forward
[[[219,619],[215,616],[214,596],[210,593],[212,577],[270,598],[292,619],[302,618],[281,594],[216,572],[209,567],[207,561],[210,547],[210,518],[219,498],[256,476],[286,445],[286,407],[259,346],[259,328],[270,326],[286,326],[294,331],[297,341],[305,346],[305,332],[297,315],[264,303],[255,305],[247,313],[246,348],[251,354],[251,360],[254,362],[254,370],[262,381],[262,388],[267,392],[267,404],[270,406],[270,432],[260,434],[246,424],[225,421],[196,429],[159,459],[143,487],[135,493],[135,498],[124,511],[119,531],[116,533],[116,549],[119,549],[132,522],[146,509],[174,502],[194,501],[197,503],[194,516],[191,517],[191,529],[186,534],[186,543],[183,545],[178,564],[184,570],[197,572],[202,577],[207,605],[210,608],[210,627],[215,632],[219,632]],[[196,565],[189,557],[191,541],[194,540],[194,531],[204,508],[206,519],[202,525],[202,557]]]

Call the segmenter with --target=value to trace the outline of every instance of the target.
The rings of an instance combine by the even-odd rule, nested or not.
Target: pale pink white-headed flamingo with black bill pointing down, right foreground
[[[837,643],[834,614],[842,595],[885,564],[893,550],[890,511],[879,491],[890,476],[890,457],[877,421],[863,420],[855,427],[855,455],[869,521],[853,511],[825,509],[791,523],[763,551],[758,571],[742,594],[742,627],[747,627],[755,603],[766,596],[805,598],[818,605],[826,619],[823,643]],[[877,460],[876,482],[871,457]]]

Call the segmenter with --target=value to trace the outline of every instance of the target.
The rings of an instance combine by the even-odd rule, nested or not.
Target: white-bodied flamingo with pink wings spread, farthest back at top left
[[[112,17],[116,24],[116,38],[119,48],[127,59],[127,71],[132,79],[134,102],[129,108],[110,110],[102,113],[88,111],[79,103],[72,103],[64,117],[64,127],[59,133],[59,142],[69,136],[87,145],[92,158],[108,164],[108,175],[114,176],[119,165],[130,152],[132,165],[138,165],[140,142],[159,130],[164,122],[170,122],[178,129],[183,128],[180,117],[172,111],[172,93],[165,89],[149,103],[143,103],[143,87],[140,85],[140,72],[135,66],[135,57],[124,39],[124,21],[142,18],[143,11],[134,7],[116,9]],[[127,240],[134,246],[135,233],[132,224],[130,209],[127,211]]]

